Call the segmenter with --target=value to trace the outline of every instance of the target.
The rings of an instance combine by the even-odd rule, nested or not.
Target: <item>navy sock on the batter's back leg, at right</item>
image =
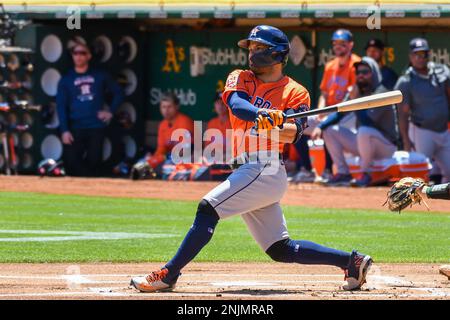
[[[275,242],[266,253],[279,262],[324,264],[346,269],[351,253],[328,248],[306,240],[285,239]]]

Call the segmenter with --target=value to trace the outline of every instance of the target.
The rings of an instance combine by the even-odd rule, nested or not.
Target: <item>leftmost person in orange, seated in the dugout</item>
[[[172,133],[177,129],[186,129],[186,134],[193,137],[194,122],[187,115],[180,112],[180,101],[173,93],[166,93],[161,98],[159,110],[163,120],[158,128],[158,144],[156,151],[151,155],[147,162],[153,168],[157,169],[164,161],[170,160],[170,152],[179,141],[171,139]],[[156,170],[157,172],[159,170]]]

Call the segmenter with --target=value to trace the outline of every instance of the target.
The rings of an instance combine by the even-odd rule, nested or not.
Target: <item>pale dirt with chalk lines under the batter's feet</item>
[[[1,264],[0,299],[450,299],[435,264],[374,264],[367,284],[346,292],[343,272],[276,263],[192,263],[173,292],[130,287],[161,264]]]

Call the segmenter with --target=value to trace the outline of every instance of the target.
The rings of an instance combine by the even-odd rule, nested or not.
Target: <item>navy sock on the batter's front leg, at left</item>
[[[197,213],[191,229],[186,234],[183,242],[178,248],[175,256],[165,265],[169,270],[167,281],[171,282],[178,278],[180,270],[184,268],[204,246],[211,240],[214,228],[219,219],[215,216]]]

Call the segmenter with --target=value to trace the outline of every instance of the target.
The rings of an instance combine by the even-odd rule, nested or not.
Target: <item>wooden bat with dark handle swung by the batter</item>
[[[335,105],[322,109],[315,109],[299,113],[293,113],[286,116],[286,119],[306,118],[309,116],[324,114],[330,112],[349,112],[371,108],[383,107],[391,104],[400,103],[403,95],[400,90],[388,91],[373,94],[367,97],[357,98],[349,101],[337,103]]]

